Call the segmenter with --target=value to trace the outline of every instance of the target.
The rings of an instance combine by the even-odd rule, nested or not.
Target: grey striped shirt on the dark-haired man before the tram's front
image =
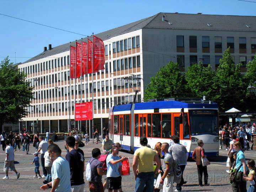
[[[169,147],[168,151],[172,154],[174,160],[176,160],[179,165],[187,165],[188,153],[184,145],[174,143]]]

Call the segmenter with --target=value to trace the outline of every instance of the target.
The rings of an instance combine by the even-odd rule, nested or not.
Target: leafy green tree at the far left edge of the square
[[[0,126],[4,123],[17,123],[27,115],[33,87],[25,81],[21,73],[8,57],[0,64]]]

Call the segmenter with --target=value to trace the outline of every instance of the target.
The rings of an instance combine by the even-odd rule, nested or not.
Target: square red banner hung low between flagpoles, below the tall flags
[[[75,121],[92,119],[92,101],[75,104]]]

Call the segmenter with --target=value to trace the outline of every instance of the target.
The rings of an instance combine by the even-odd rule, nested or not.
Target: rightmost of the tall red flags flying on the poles
[[[97,73],[99,70],[105,69],[105,47],[103,41],[94,36],[94,73]]]

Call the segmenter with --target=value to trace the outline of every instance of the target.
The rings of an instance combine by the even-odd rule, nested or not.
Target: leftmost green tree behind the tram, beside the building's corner
[[[144,101],[151,98],[185,97],[185,78],[177,63],[162,66],[146,87]]]

